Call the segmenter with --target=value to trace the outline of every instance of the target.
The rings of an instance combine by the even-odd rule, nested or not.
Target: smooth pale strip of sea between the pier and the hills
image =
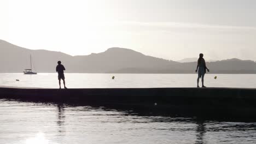
[[[68,88],[196,87],[197,74],[65,74],[65,77]],[[256,75],[206,74],[205,85],[256,88]],[[0,74],[0,86],[59,88],[59,82],[57,74]]]

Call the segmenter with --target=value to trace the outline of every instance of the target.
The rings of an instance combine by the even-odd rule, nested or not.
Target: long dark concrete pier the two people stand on
[[[250,88],[19,88],[0,87],[0,98],[98,105],[131,105],[161,111],[256,118]],[[192,115],[192,116],[193,116]]]

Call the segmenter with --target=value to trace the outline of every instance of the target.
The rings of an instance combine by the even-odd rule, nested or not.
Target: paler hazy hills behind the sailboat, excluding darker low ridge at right
[[[39,73],[54,73],[59,60],[67,68],[67,73],[108,73],[125,68],[158,69],[178,64],[118,47],[88,56],[70,56],[62,52],[29,50],[0,40],[0,73],[22,73],[25,68],[30,68],[30,54]]]

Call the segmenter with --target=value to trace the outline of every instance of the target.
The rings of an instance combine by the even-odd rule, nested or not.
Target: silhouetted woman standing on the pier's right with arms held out
[[[210,70],[206,67],[205,59],[203,59],[203,54],[200,53],[199,59],[197,61],[197,67],[196,67],[196,73],[198,70],[197,87],[199,87],[200,77],[202,79],[202,87],[206,87],[205,85],[203,85],[203,77],[205,77],[206,69],[208,72],[210,72]]]

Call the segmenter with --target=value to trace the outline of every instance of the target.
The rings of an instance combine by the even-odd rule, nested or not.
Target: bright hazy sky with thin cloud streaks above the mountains
[[[0,0],[0,39],[89,55],[125,47],[179,60],[256,61],[254,0]]]

